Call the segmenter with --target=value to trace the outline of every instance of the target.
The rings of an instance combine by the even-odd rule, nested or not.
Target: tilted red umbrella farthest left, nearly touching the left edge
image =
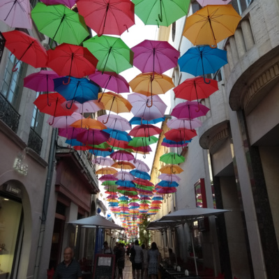
[[[33,38],[22,31],[8,31],[2,33],[6,39],[5,47],[17,57],[34,68],[43,68],[47,66],[47,52],[36,38]],[[19,62],[17,61],[17,63]],[[17,66],[13,66],[13,72]]]

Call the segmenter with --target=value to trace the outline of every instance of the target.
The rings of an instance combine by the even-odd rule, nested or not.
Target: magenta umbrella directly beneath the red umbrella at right
[[[178,119],[194,119],[206,115],[207,112],[209,112],[209,108],[205,105],[201,105],[197,101],[187,101],[176,105],[170,115]]]

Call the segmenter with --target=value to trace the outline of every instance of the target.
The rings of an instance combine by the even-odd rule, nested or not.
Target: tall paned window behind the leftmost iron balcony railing
[[[17,70],[13,72],[13,66],[15,66],[16,61],[17,59],[13,54],[8,55],[1,93],[18,110],[25,67],[22,61],[20,61],[17,63]]]

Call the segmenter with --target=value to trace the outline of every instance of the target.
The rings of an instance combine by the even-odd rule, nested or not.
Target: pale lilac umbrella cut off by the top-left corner
[[[29,0],[3,0],[0,3],[0,20],[9,27],[32,29]]]

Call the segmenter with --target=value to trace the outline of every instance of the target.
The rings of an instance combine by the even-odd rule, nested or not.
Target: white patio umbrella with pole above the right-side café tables
[[[185,223],[192,223],[193,221],[200,220],[204,217],[215,216],[220,213],[225,213],[227,209],[206,209],[202,207],[195,207],[194,209],[180,209],[178,211],[174,211],[172,213],[167,214],[160,218],[160,220],[164,221],[176,221],[177,225],[184,225]],[[191,235],[191,241],[193,246],[194,260],[195,260],[195,269],[197,274],[197,259],[195,257],[195,249],[194,249],[194,241],[193,235]],[[198,275],[198,274],[197,274]]]

